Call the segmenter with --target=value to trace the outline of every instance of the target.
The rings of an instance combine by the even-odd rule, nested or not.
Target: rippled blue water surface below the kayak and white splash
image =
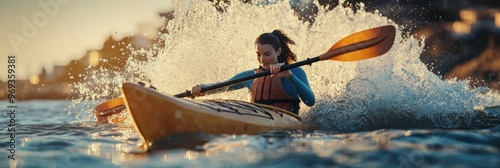
[[[136,153],[139,135],[127,125],[74,122],[68,101],[17,104],[18,167],[498,167],[500,123],[467,129],[374,129],[273,131],[217,135],[195,149]],[[1,107],[8,105],[0,103]],[[87,103],[76,105],[86,107]],[[486,109],[500,115],[500,108]],[[2,110],[1,167],[10,155]],[[13,162],[11,164],[14,164]]]

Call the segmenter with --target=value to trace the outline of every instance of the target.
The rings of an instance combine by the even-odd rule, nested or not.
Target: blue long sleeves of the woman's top
[[[311,87],[309,86],[309,81],[307,80],[307,75],[304,72],[304,70],[300,67],[292,68],[290,69],[292,72],[292,75],[289,78],[281,78],[281,83],[283,84],[283,87],[285,91],[292,97],[292,99],[297,99],[300,97],[302,102],[306,104],[307,106],[313,106],[314,103],[316,102],[316,98],[314,96],[314,92],[312,91]],[[233,79],[238,79],[241,77],[253,75],[255,73],[255,70],[247,70],[243,71],[239,74],[236,74],[234,77],[232,77],[229,80]],[[250,86],[252,86],[253,79],[247,80],[244,82],[240,82],[228,87],[224,87],[221,89],[214,89],[211,91],[208,91],[207,94],[213,94],[213,93],[218,93],[218,92],[223,92],[223,91],[232,91],[232,90],[238,90],[242,88],[247,88],[250,89]],[[209,84],[210,85],[210,84]],[[208,86],[209,86],[208,85]],[[204,87],[207,85],[204,85]]]

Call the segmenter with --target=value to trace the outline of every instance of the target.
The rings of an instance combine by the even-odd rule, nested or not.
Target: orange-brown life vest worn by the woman
[[[264,69],[259,67],[255,73],[263,71]],[[254,79],[250,86],[250,96],[253,103],[272,105],[296,114],[299,112],[300,100],[288,95],[279,77],[263,76]]]

